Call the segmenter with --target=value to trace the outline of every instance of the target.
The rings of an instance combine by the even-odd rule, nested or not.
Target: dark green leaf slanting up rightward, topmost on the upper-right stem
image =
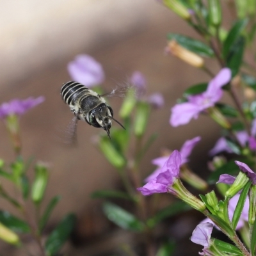
[[[235,44],[235,42],[237,41],[237,39],[239,38],[239,36],[241,35],[242,31],[244,30],[247,24],[248,24],[248,19],[242,19],[242,20],[238,20],[234,24],[234,26],[232,26],[223,44],[222,53],[224,58],[226,58],[228,54],[230,54],[230,51],[233,45]]]

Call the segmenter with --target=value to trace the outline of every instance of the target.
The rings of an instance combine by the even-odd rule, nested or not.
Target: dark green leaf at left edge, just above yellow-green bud
[[[10,212],[0,211],[0,222],[3,223],[4,226],[13,230],[14,232],[18,232],[18,233],[30,232],[28,223],[13,216],[12,214],[10,214]]]

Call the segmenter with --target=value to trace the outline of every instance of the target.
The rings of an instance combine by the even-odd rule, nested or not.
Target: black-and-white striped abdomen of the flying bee
[[[90,90],[83,84],[70,81],[61,87],[61,95],[68,105],[74,105],[82,95],[90,93]]]

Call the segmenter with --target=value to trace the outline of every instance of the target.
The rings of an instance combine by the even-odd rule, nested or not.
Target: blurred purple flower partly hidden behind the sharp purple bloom
[[[191,151],[193,150],[195,145],[200,140],[201,140],[201,137],[197,136],[197,137],[193,138],[192,140],[185,141],[185,143],[180,148],[181,164],[187,163],[189,161],[188,157],[190,156]],[[152,164],[157,165],[158,168],[156,169],[156,171],[154,171],[151,175],[149,175],[145,179],[146,182],[148,182],[152,179],[155,179],[157,177],[157,175],[159,175],[159,173],[161,173],[161,170],[162,170],[161,167],[168,160],[168,158],[169,158],[168,156],[163,156],[163,157],[158,157],[158,158],[152,160]]]

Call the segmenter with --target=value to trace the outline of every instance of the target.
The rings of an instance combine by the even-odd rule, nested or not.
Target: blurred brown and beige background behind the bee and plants
[[[139,70],[147,77],[148,93],[163,93],[166,104],[163,109],[154,111],[148,127],[148,134],[159,132],[159,137],[143,160],[145,175],[153,170],[150,161],[159,156],[161,148],[179,149],[185,140],[198,135],[202,136],[202,141],[193,152],[191,165],[195,170],[205,168],[207,150],[218,136],[216,124],[200,117],[174,129],[169,118],[170,108],[184,89],[209,81],[209,77],[164,54],[166,33],[195,35],[185,22],[157,1],[3,0],[0,22],[0,102],[45,96],[43,104],[22,116],[21,127],[24,157],[33,155],[51,164],[45,203],[54,195],[62,196],[53,212],[52,226],[67,212],[75,212],[83,223],[83,216],[90,215],[88,212],[99,204],[90,199],[90,193],[118,184],[115,170],[92,143],[93,135],[100,132],[98,129],[80,123],[76,148],[67,147],[57,139],[72,118],[60,97],[60,88],[70,79],[67,63],[76,54],[90,54],[102,63],[107,77],[106,90],[124,83],[132,72]],[[122,99],[111,100],[114,113],[118,113],[121,102]],[[0,156],[10,163],[14,155],[3,124],[0,132]],[[0,202],[1,209],[13,212],[10,205],[3,200]],[[191,227],[188,223],[183,225],[191,230],[195,227],[195,223]],[[188,237],[191,235],[189,228],[188,234],[185,232]],[[188,240],[186,243],[192,246]],[[3,243],[1,248],[3,252],[10,250],[10,246]],[[83,247],[72,248],[68,249],[69,255],[100,255]],[[104,249],[101,252],[104,255]],[[181,251],[180,255],[186,253]]]

